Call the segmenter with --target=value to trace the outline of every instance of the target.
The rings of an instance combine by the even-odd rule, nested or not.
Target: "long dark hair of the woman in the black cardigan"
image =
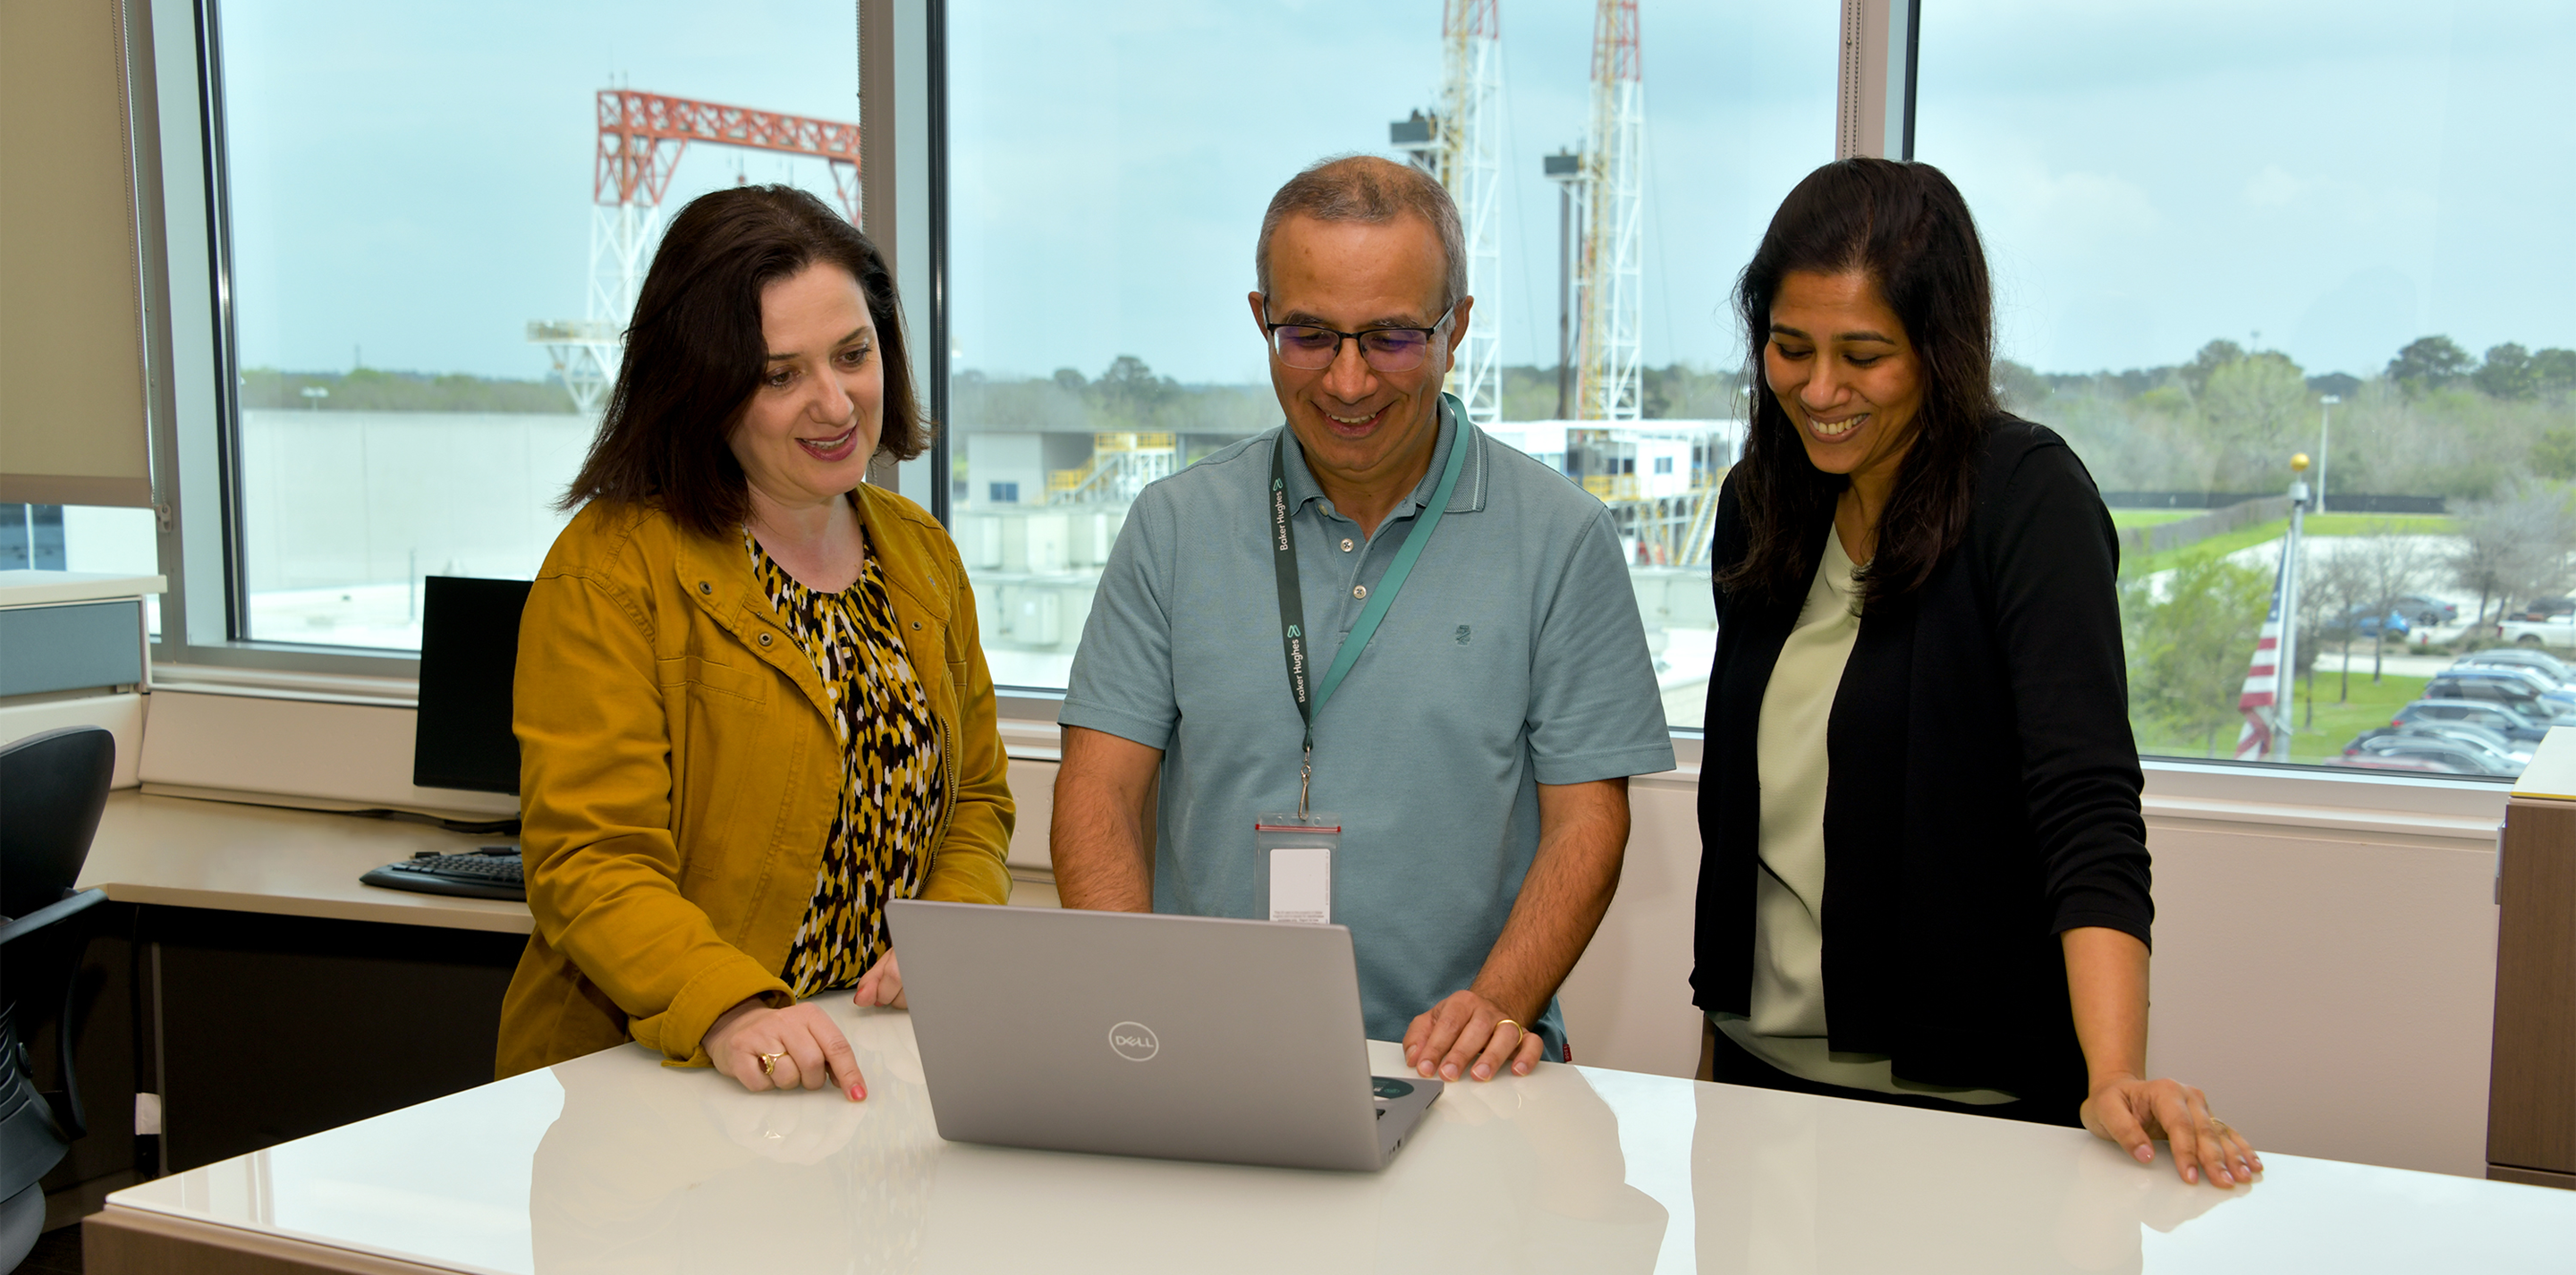
[[[1896,600],[1932,577],[1968,533],[1976,456],[1996,415],[1994,294],[1968,201],[1932,165],[1837,160],[1806,175],[1772,214],[1762,247],[1736,281],[1736,312],[1752,337],[1752,428],[1736,466],[1744,559],[1718,567],[1718,587],[1803,598],[1816,574],[1811,538],[1834,515],[1847,479],[1808,464],[1762,373],[1770,307],[1793,270],[1862,273],[1906,325],[1924,397],[1896,489],[1878,515],[1878,556],[1860,574],[1860,600]]]

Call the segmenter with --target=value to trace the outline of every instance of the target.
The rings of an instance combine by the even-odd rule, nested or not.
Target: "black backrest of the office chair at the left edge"
[[[0,917],[26,917],[80,881],[116,780],[116,737],[64,726],[0,747]]]

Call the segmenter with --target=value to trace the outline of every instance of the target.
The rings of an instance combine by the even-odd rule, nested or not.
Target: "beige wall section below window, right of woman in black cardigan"
[[[2259,1146],[2486,1177],[2494,827],[2148,819],[2148,1069]]]

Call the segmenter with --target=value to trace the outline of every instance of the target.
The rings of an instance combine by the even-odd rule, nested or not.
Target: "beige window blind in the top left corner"
[[[118,0],[0,5],[0,502],[149,505]]]

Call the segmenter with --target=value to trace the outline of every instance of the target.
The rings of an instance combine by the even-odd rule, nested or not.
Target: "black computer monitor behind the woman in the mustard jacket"
[[[526,605],[526,580],[433,574],[422,582],[415,786],[518,791],[510,675],[518,670],[518,613]]]

